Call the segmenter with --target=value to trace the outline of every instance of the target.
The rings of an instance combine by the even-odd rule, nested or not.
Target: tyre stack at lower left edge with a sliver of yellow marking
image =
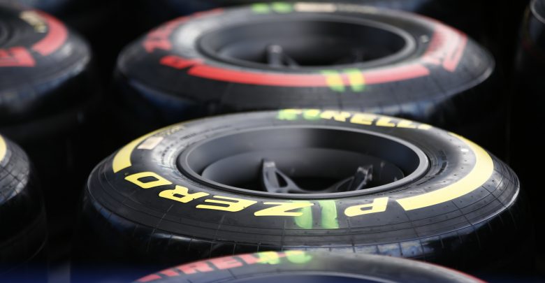
[[[46,279],[45,211],[27,154],[0,136],[0,277]]]

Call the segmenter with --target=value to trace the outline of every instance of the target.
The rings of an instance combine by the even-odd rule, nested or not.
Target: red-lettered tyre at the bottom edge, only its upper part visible
[[[188,263],[135,282],[483,282],[456,270],[368,254],[261,252]]]

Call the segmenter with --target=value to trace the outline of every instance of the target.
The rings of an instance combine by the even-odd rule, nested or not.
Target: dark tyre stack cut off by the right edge
[[[542,200],[545,197],[542,187],[542,166],[536,166],[545,159],[540,123],[543,119],[545,100],[545,1],[535,0],[530,3],[521,27],[520,47],[516,57],[516,93],[513,98],[513,127],[511,139],[511,160],[521,175],[521,180],[528,185],[527,193],[532,199],[533,219],[536,223],[538,238],[543,238],[545,231],[542,223],[545,216],[541,213]],[[541,257],[545,246],[538,245]],[[545,268],[542,267],[542,272]]]

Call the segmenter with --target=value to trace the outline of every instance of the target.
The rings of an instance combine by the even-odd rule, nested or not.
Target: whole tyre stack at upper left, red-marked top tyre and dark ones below
[[[87,43],[56,18],[0,3],[0,131],[34,161],[53,234],[67,236],[52,238],[62,247],[98,161],[100,139],[88,134],[99,101],[91,60]]]

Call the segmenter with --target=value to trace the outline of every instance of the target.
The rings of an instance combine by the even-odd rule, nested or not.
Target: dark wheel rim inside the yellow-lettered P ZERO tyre
[[[177,166],[197,182],[284,198],[387,191],[426,173],[418,147],[392,136],[336,127],[261,128],[188,147]]]

